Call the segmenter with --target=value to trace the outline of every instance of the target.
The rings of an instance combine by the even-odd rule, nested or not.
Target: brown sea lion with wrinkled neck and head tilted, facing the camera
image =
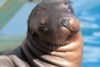
[[[8,55],[31,67],[81,67],[80,22],[69,0],[44,0],[30,14],[27,37]]]

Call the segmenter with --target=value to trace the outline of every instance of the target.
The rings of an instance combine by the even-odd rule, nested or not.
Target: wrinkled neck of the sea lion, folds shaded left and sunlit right
[[[80,37],[81,37],[81,34],[78,33],[78,39],[76,41],[80,41],[79,40]],[[35,38],[31,40],[28,37],[26,38],[25,43],[22,46],[22,50],[26,58],[28,58],[27,61],[30,63],[32,67],[34,67],[34,65],[38,65],[39,67],[41,66],[67,67],[67,66],[70,66],[70,63],[74,59],[78,59],[79,57],[81,58],[80,54],[77,56],[74,56],[74,52],[77,52],[77,51],[79,52],[79,50],[81,49],[79,46],[80,44],[76,45],[74,43],[70,43],[66,46],[59,47],[56,51],[50,51],[48,49],[50,48],[49,46],[46,46],[46,44],[41,44],[41,43],[42,42],[39,42]],[[73,57],[70,57],[70,55],[73,55]],[[79,63],[79,62],[77,61],[76,63]],[[73,67],[74,65],[75,64],[72,64],[72,66],[70,67]]]

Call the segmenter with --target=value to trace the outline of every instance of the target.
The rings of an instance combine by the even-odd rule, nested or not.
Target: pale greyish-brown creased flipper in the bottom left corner
[[[26,62],[22,61],[15,55],[0,56],[0,67],[30,67]]]

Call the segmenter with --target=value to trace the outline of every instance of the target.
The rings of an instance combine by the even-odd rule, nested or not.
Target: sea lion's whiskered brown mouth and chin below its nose
[[[77,31],[74,31],[74,32],[70,31],[69,34],[68,33],[56,34],[55,40],[53,40],[51,38],[51,41],[50,41],[50,39],[49,40],[46,39],[46,41],[45,40],[44,41],[47,42],[49,45],[51,44],[51,45],[55,45],[55,46],[58,46],[58,47],[64,46],[64,45],[69,44],[70,39],[71,38],[74,39],[75,38],[74,36],[76,36],[78,32],[79,31],[77,30]]]

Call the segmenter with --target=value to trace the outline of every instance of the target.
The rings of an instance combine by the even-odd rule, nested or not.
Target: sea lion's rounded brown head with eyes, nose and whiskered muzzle
[[[68,2],[39,4],[30,16],[33,37],[55,45],[66,45],[80,30],[80,24]],[[34,33],[36,35],[34,35]]]

